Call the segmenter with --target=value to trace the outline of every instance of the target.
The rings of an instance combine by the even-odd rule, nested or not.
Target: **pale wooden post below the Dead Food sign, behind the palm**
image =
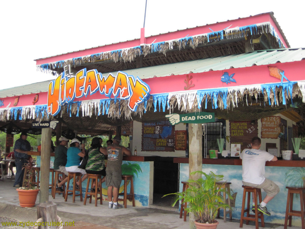
[[[189,154],[188,154],[188,172],[189,174],[195,171],[202,171],[202,124],[192,123],[188,125],[188,140],[189,140]],[[200,174],[189,175],[189,179],[197,180],[201,177]],[[195,228],[195,216],[190,213],[189,228]]]

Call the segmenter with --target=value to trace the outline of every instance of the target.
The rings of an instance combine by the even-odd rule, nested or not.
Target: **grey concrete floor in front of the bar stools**
[[[23,222],[35,222],[37,220],[37,208],[39,204],[39,194],[36,201],[36,206],[32,208],[21,208],[19,206],[19,199],[16,188],[13,187],[13,179],[5,179],[0,181],[0,219],[9,217]],[[73,229],[188,229],[189,219],[184,222],[179,218],[177,209],[171,209],[170,206],[157,206],[153,207],[162,208],[145,208],[145,207],[132,207],[127,205],[124,209],[108,209],[108,202],[103,201],[103,205],[95,207],[94,202],[84,205],[80,202],[80,198],[76,197],[76,202],[72,203],[72,196],[68,197],[68,201],[64,202],[61,195],[56,195],[53,199],[49,195],[49,201],[56,203],[57,215],[63,222],[73,222],[75,226],[66,226],[64,228]],[[2,218],[1,218],[2,216]],[[267,216],[266,216],[267,217]],[[223,219],[218,219],[218,229],[231,229],[239,228],[239,221],[226,223]],[[0,224],[2,227],[2,224]],[[5,228],[15,228],[8,227]],[[245,225],[244,229],[254,229],[255,225]],[[265,228],[284,228],[282,225],[265,224]],[[300,227],[289,227],[297,229]]]

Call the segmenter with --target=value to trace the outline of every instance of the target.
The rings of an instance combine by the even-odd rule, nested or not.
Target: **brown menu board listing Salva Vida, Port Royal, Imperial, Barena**
[[[231,144],[240,144],[241,151],[251,147],[251,139],[258,136],[257,120],[230,121],[229,125]]]

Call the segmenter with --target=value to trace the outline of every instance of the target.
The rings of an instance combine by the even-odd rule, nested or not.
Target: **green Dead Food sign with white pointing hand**
[[[165,115],[169,119],[171,125],[182,123],[207,123],[215,122],[215,113],[195,112],[188,114],[170,114]]]

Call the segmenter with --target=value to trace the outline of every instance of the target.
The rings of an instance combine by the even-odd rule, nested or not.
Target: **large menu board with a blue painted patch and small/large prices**
[[[142,122],[142,151],[175,151],[175,126],[168,120]]]

